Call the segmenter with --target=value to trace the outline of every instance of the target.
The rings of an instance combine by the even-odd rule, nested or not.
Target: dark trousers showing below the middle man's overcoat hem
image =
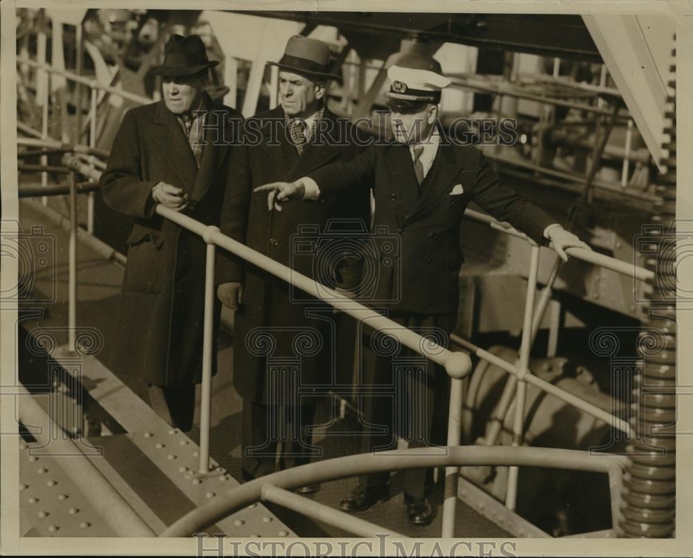
[[[274,473],[279,453],[279,469],[310,462],[315,403],[297,406],[263,405],[243,399],[240,436],[241,468],[246,480]]]

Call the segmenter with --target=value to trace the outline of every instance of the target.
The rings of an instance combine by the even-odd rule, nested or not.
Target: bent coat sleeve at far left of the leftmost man
[[[143,180],[137,119],[129,110],[123,117],[108,164],[101,175],[103,200],[108,207],[125,215],[151,217],[155,207],[152,188],[157,182]]]

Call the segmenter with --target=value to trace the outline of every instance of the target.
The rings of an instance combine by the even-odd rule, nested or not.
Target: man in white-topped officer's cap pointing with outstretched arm
[[[404,53],[387,73],[392,82],[387,104],[394,143],[370,146],[351,162],[336,162],[295,182],[267,184],[256,191],[268,191],[268,207],[281,209],[279,204],[288,200],[327,200],[374,180],[374,225],[385,227],[400,240],[397,253],[370,256],[376,258],[371,265],[378,270],[374,299],[388,301],[383,306],[398,324],[421,335],[433,335],[445,345],[457,320],[459,269],[464,261],[459,232],[469,202],[508,221],[538,243],[552,242],[564,259],[565,248],[587,245],[500,182],[479,150],[455,145],[441,136],[437,126],[441,89],[450,80],[432,56]],[[364,381],[376,386],[395,383],[397,394],[394,398],[379,396],[376,387],[365,398],[366,424],[384,425],[387,433],[365,435],[362,451],[395,448],[396,430],[409,439],[410,447],[446,445],[449,378],[445,370],[428,362],[423,369],[410,366],[402,377],[395,359],[416,355],[404,347],[394,354],[378,351],[376,339],[373,336],[370,347],[365,347]],[[395,417],[401,415],[406,420],[396,424]],[[432,469],[405,471],[410,523],[432,521],[428,501],[432,480]],[[387,472],[363,476],[342,500],[342,509],[358,512],[387,498],[388,481]]]

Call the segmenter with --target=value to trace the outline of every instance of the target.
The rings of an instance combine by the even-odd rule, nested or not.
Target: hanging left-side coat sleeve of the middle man
[[[248,147],[231,146],[226,190],[221,207],[219,229],[234,241],[245,244],[245,232],[252,195],[252,175]],[[216,263],[216,284],[243,281],[244,260],[220,248]]]

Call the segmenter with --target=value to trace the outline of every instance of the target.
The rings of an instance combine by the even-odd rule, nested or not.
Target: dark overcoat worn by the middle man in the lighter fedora
[[[296,180],[330,162],[351,159],[358,152],[351,141],[355,137],[351,123],[326,111],[324,122],[318,124],[322,133],[300,156],[290,142],[281,107],[258,114],[245,124],[248,133],[244,145],[234,147],[231,157],[232,180],[222,210],[221,231],[227,233],[229,224],[238,221],[237,213],[243,207],[239,196],[245,193],[249,205],[245,242],[249,247],[328,286],[348,286],[348,266],[336,274],[335,262],[321,256],[329,250],[319,243],[329,242],[331,234],[342,238],[334,233],[334,227],[326,234],[329,220],[349,219],[350,225],[341,223],[340,227],[360,227],[367,232],[368,189],[319,202],[296,202],[284,211],[268,211],[267,193],[252,190],[267,182]],[[338,247],[335,252],[340,250]],[[233,268],[229,272],[228,262],[220,254],[218,282],[233,278],[235,272]],[[297,385],[306,393],[311,385],[333,382],[334,334],[331,306],[247,265],[243,309],[236,313],[234,323],[236,391],[245,399],[267,404],[278,402],[268,396],[268,391],[277,389],[277,382],[290,393],[295,393]],[[275,366],[277,372],[269,372]],[[270,376],[272,381],[268,381]],[[283,396],[283,403],[301,402],[287,401],[290,393]]]

